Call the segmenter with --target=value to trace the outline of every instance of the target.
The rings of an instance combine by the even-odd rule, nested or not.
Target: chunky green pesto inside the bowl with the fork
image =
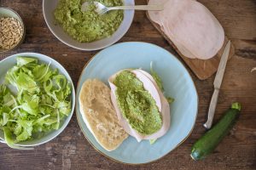
[[[81,5],[90,2],[88,10],[82,12]],[[105,37],[110,37],[115,32],[122,20],[122,10],[112,10],[107,14],[99,15],[95,11],[93,0],[60,0],[55,8],[55,20],[63,30],[79,42],[94,42]],[[122,5],[122,0],[97,0],[107,7]]]

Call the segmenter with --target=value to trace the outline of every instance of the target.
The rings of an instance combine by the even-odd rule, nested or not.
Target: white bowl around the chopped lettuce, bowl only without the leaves
[[[47,63],[49,64],[49,61],[51,62],[50,68],[51,69],[58,69],[59,73],[64,75],[67,78],[68,82],[71,82],[72,85],[72,106],[71,106],[71,112],[70,114],[62,120],[61,126],[58,130],[53,130],[47,134],[44,135],[44,137],[40,139],[32,139],[32,140],[26,140],[20,143],[17,143],[19,146],[25,146],[25,147],[31,147],[31,146],[36,146],[39,144],[44,144],[46,142],[49,142],[49,140],[54,139],[56,136],[58,136],[64,129],[67,127],[68,122],[70,122],[71,117],[73,116],[73,111],[74,111],[74,106],[75,106],[75,90],[73,87],[73,82],[65,68],[58,63],[55,59],[51,59],[50,57],[44,55],[44,54],[36,54],[36,53],[21,53],[21,54],[14,54],[9,56],[6,59],[3,59],[0,61],[0,84],[3,83],[4,77],[6,75],[6,72],[16,65],[16,58],[21,57],[21,56],[26,56],[26,57],[33,57],[37,58],[39,63]],[[3,131],[0,130],[0,139],[4,140],[4,135]],[[2,141],[3,142],[3,141]]]

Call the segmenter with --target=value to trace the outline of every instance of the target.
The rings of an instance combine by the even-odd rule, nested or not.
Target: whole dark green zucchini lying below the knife
[[[225,135],[235,125],[236,118],[241,111],[239,103],[232,104],[231,108],[224,113],[224,116],[215,124],[201,139],[198,139],[192,147],[191,157],[194,160],[201,160],[212,153]]]

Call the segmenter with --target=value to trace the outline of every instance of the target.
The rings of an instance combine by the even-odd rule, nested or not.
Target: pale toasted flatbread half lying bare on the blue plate
[[[103,82],[86,80],[79,94],[79,105],[86,126],[105,150],[115,150],[128,137],[119,125],[110,89]]]

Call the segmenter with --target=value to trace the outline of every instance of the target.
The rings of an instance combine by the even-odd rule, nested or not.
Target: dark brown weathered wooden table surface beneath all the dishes
[[[217,150],[204,161],[193,161],[190,150],[206,129],[207,109],[212,96],[214,76],[200,81],[191,72],[199,94],[199,111],[195,128],[189,139],[159,161],[141,166],[124,165],[102,156],[84,139],[76,116],[57,138],[35,150],[12,150],[0,144],[0,169],[256,169],[256,1],[200,0],[218,18],[226,35],[236,47],[230,59],[220,89],[215,120],[234,101],[241,102],[239,121]],[[145,4],[146,0],[137,0]],[[46,54],[59,61],[71,74],[74,84],[79,80],[84,64],[94,52],[69,48],[49,31],[44,22],[42,1],[0,0],[0,6],[13,8],[26,24],[26,39],[20,48],[0,54],[0,59],[21,52]],[[144,12],[136,12],[130,30],[119,42],[151,42],[179,56],[158,31],[150,25]],[[188,68],[188,67],[187,67]]]

